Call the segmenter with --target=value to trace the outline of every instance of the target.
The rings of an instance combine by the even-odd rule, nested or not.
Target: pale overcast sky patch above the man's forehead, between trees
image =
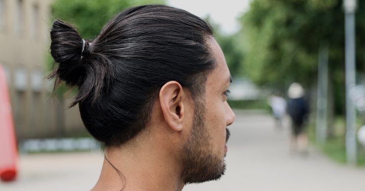
[[[167,2],[199,17],[210,15],[225,34],[239,30],[236,18],[249,7],[249,0],[168,0]]]

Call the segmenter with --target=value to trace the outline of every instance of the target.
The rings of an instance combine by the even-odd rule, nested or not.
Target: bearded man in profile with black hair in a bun
[[[56,20],[51,54],[59,63],[51,77],[78,87],[73,105],[106,147],[93,191],[181,191],[223,175],[232,79],[205,21],[138,6],[91,41]]]

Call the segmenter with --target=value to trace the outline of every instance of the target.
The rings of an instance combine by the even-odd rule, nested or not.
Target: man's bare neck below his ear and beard
[[[181,191],[181,168],[173,153],[152,143],[150,137],[137,138],[120,147],[107,147],[99,180],[92,191]]]

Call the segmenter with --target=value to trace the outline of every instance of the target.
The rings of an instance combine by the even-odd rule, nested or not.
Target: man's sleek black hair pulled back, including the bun
[[[211,27],[201,18],[165,5],[128,8],[112,18],[94,40],[82,39],[73,26],[55,20],[51,55],[58,67],[50,78],[78,87],[79,104],[90,134],[106,146],[136,136],[149,120],[154,98],[176,80],[194,99],[204,95],[214,67],[208,39]]]

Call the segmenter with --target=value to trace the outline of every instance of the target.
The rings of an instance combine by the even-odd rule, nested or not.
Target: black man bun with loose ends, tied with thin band
[[[80,37],[76,29],[61,20],[54,20],[51,35],[51,55],[58,63],[49,78],[56,77],[55,86],[66,82],[78,86],[78,95],[71,107],[86,97],[95,101],[110,81],[113,71],[110,61],[103,55],[91,52],[91,42]],[[107,75],[108,74],[108,75]]]

